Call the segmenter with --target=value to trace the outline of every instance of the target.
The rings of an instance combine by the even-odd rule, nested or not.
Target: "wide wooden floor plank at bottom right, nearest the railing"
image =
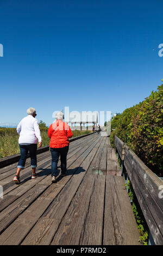
[[[106,176],[103,245],[139,245],[139,236],[123,177]]]

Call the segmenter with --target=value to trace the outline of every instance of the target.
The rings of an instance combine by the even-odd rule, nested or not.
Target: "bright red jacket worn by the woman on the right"
[[[73,136],[73,133],[68,126],[62,120],[57,120],[51,124],[48,130],[48,136],[51,138],[50,148],[64,148],[69,145],[68,138]]]

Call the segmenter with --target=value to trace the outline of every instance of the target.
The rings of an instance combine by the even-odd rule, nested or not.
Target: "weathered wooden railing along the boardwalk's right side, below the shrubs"
[[[115,147],[121,174],[130,180],[148,224],[149,244],[163,245],[163,182],[116,136]]]

